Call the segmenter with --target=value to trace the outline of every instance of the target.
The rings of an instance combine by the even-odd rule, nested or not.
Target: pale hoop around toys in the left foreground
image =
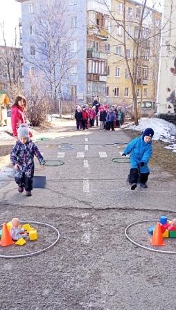
[[[54,226],[50,225],[50,224],[46,224],[43,223],[42,221],[21,221],[21,224],[39,224],[39,225],[43,225],[43,226],[48,226],[50,228],[52,228],[53,230],[55,230],[55,232],[58,234],[57,238],[55,239],[55,241],[53,242],[53,244],[51,244],[50,246],[46,246],[46,248],[43,248],[42,250],[37,250],[36,252],[31,252],[31,253],[26,253],[26,254],[20,254],[20,255],[0,255],[0,257],[2,258],[17,258],[17,257],[28,257],[28,256],[33,256],[33,255],[37,255],[40,253],[43,253],[46,250],[49,250],[49,248],[52,248],[60,239],[60,232],[57,228],[55,228]],[[2,225],[1,225],[2,226]]]

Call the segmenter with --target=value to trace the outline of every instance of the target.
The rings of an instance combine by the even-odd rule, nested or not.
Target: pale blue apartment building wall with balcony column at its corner
[[[21,44],[24,53],[24,77],[35,74],[37,55],[35,46],[36,14],[41,0],[21,2]],[[108,0],[109,1],[109,0]],[[108,10],[104,0],[67,1],[67,37],[71,51],[70,68],[62,79],[60,93],[64,98],[91,102],[96,95],[106,99],[107,89],[107,27]],[[39,60],[39,58],[38,58]],[[59,69],[58,69],[59,71]],[[57,73],[56,73],[57,74]],[[60,95],[60,94],[57,94]]]

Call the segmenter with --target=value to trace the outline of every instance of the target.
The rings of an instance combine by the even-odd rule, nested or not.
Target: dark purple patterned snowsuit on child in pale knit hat
[[[26,192],[33,190],[34,155],[40,165],[44,165],[44,158],[37,145],[29,139],[25,144],[17,140],[10,155],[12,165],[18,164],[20,167],[19,170],[15,170],[15,182],[20,188],[25,188]]]

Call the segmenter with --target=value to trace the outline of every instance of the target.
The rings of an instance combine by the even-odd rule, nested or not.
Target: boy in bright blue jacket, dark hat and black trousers
[[[131,190],[135,190],[135,188],[137,188],[138,178],[141,188],[148,188],[146,182],[148,181],[148,176],[150,174],[148,162],[152,156],[153,135],[153,129],[146,128],[146,130],[143,132],[143,136],[134,138],[127,145],[127,147],[125,147],[122,154],[122,156],[130,154],[129,182],[131,185]]]

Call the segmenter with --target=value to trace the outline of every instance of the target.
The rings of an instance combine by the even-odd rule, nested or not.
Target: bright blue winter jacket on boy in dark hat
[[[130,167],[137,168],[141,173],[150,172],[148,162],[152,156],[152,141],[149,143],[144,142],[143,136],[134,138],[127,147],[125,147],[125,155],[130,154]],[[145,165],[141,167],[140,163],[144,162]]]

